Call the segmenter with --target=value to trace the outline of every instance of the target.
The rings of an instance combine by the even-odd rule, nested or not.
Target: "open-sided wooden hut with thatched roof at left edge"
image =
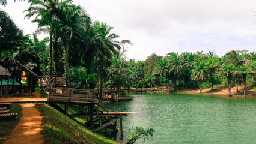
[[[24,65],[20,64],[19,61],[17,61],[16,59],[13,59],[13,58],[10,58],[10,57],[7,57],[7,58],[4,58],[4,59],[1,59],[0,60],[0,65],[4,68],[2,69],[2,71],[5,70],[5,73],[6,73],[6,69],[5,68],[10,68],[10,67],[17,67],[19,68],[21,71],[25,71],[26,73],[26,76],[11,76],[11,74],[8,72],[8,75],[5,74],[5,76],[2,76],[2,79],[5,77],[5,79],[8,80],[8,86],[9,86],[9,80],[10,79],[13,79],[13,88],[14,88],[14,85],[15,85],[15,82],[16,81],[20,81],[21,80],[21,77],[28,77],[29,80],[30,80],[30,88],[29,88],[29,91],[30,91],[30,94],[32,94],[32,79],[33,78],[37,78],[37,74],[35,74],[31,69],[29,69],[28,67],[25,67]],[[18,80],[19,79],[19,80]],[[11,84],[11,83],[10,83]],[[9,88],[9,87],[8,87]],[[8,89],[9,91],[10,89]]]

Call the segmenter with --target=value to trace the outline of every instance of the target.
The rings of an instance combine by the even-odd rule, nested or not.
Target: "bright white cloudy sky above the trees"
[[[74,0],[93,21],[114,27],[118,40],[130,40],[128,59],[145,60],[152,53],[214,51],[223,56],[230,50],[256,50],[255,0]],[[27,0],[8,0],[2,10],[14,23],[31,34],[36,23],[24,19]],[[39,38],[47,37],[41,34]]]

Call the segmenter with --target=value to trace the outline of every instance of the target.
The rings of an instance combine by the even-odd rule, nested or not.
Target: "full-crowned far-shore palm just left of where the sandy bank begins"
[[[174,75],[172,77],[174,84],[177,86],[177,79],[185,68],[184,59],[178,56],[178,53],[172,53],[168,59],[170,68],[169,71]]]

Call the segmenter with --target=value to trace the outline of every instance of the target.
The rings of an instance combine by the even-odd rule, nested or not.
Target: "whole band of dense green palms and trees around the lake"
[[[184,88],[210,88],[224,85],[255,88],[255,52],[231,50],[218,57],[215,52],[153,53],[145,61],[125,57],[129,40],[117,41],[112,26],[91,22],[91,17],[71,0],[31,0],[26,18],[38,24],[36,32],[49,38],[39,41],[36,34],[23,35],[10,17],[1,11],[1,57],[12,56],[33,67],[40,75],[66,76],[70,87],[167,88],[173,83]],[[10,29],[11,28],[11,29]],[[11,31],[10,31],[11,30]],[[10,37],[10,38],[8,38]]]

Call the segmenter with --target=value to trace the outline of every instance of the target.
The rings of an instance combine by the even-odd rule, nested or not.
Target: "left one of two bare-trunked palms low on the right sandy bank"
[[[227,77],[227,83],[228,83],[228,95],[231,96],[231,78],[234,73],[234,65],[232,63],[230,64],[224,64],[221,68],[220,75]]]

